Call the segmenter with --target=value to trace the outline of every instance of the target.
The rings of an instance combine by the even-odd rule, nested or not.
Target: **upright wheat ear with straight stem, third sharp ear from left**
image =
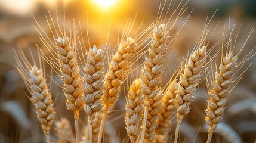
[[[92,123],[96,113],[101,110],[104,80],[104,55],[101,49],[94,45],[87,52],[87,60],[84,67],[84,110],[88,114],[90,143],[93,139]]]

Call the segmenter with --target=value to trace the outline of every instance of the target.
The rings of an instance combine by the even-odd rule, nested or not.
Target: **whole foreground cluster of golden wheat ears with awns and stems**
[[[163,8],[164,9],[164,8]],[[178,40],[178,35],[190,14],[174,30],[175,24],[186,11],[185,5],[178,5],[171,18],[166,18],[159,9],[158,18],[149,28],[140,34],[131,36],[133,23],[124,30],[116,50],[109,59],[105,59],[110,44],[105,48],[93,45],[85,51],[82,48],[84,39],[76,40],[79,32],[76,26],[62,32],[59,23],[57,26],[53,18],[47,23],[53,24],[51,32],[53,40],[47,36],[38,24],[39,38],[48,49],[50,56],[38,48],[39,60],[29,61],[24,52],[17,48],[16,67],[26,83],[30,100],[35,105],[37,118],[41,123],[46,141],[50,142],[50,129],[54,123],[55,106],[49,84],[46,80],[44,61],[51,65],[60,76],[63,84],[60,85],[66,97],[66,107],[73,111],[75,119],[75,138],[72,126],[67,119],[55,122],[55,132],[58,142],[101,142],[104,123],[107,113],[118,101],[129,73],[134,70],[132,64],[138,57],[144,56],[142,70],[137,71],[137,77],[131,78],[131,85],[127,87],[127,104],[125,105],[125,129],[130,142],[153,142],[157,135],[168,135],[168,130],[176,122],[174,142],[178,142],[178,133],[184,116],[190,112],[190,103],[196,98],[196,89],[202,80],[206,80],[208,87],[207,108],[205,109],[205,123],[209,126],[208,140],[221,122],[236,81],[234,75],[249,58],[254,56],[251,51],[246,57],[240,57],[246,41],[254,31],[252,28],[248,38],[238,53],[233,53],[237,35],[232,36],[235,25],[227,33],[220,35],[220,40],[214,46],[208,46],[209,23],[206,21],[198,41],[187,58],[180,61],[166,86],[162,86],[162,78],[166,71],[166,57],[171,47]],[[169,10],[169,9],[168,9]],[[167,14],[166,14],[167,15]],[[172,21],[172,22],[171,22]],[[52,22],[52,23],[51,23]],[[176,26],[177,27],[177,26]],[[224,42],[224,39],[228,39]],[[78,42],[79,41],[79,42]],[[80,43],[81,46],[78,46]],[[146,46],[145,46],[146,45]],[[214,49],[222,54],[221,63],[215,62],[216,72],[212,72],[212,63],[219,52],[211,54]],[[84,49],[82,53],[77,48]],[[226,51],[226,52],[224,52]],[[213,56],[211,56],[213,55]],[[33,56],[32,56],[33,57]],[[82,66],[79,66],[82,65]],[[205,76],[202,77],[202,74]],[[28,95],[29,96],[29,95]],[[202,109],[203,110],[203,109]],[[85,111],[88,115],[88,128],[85,134],[79,133],[79,113]]]

